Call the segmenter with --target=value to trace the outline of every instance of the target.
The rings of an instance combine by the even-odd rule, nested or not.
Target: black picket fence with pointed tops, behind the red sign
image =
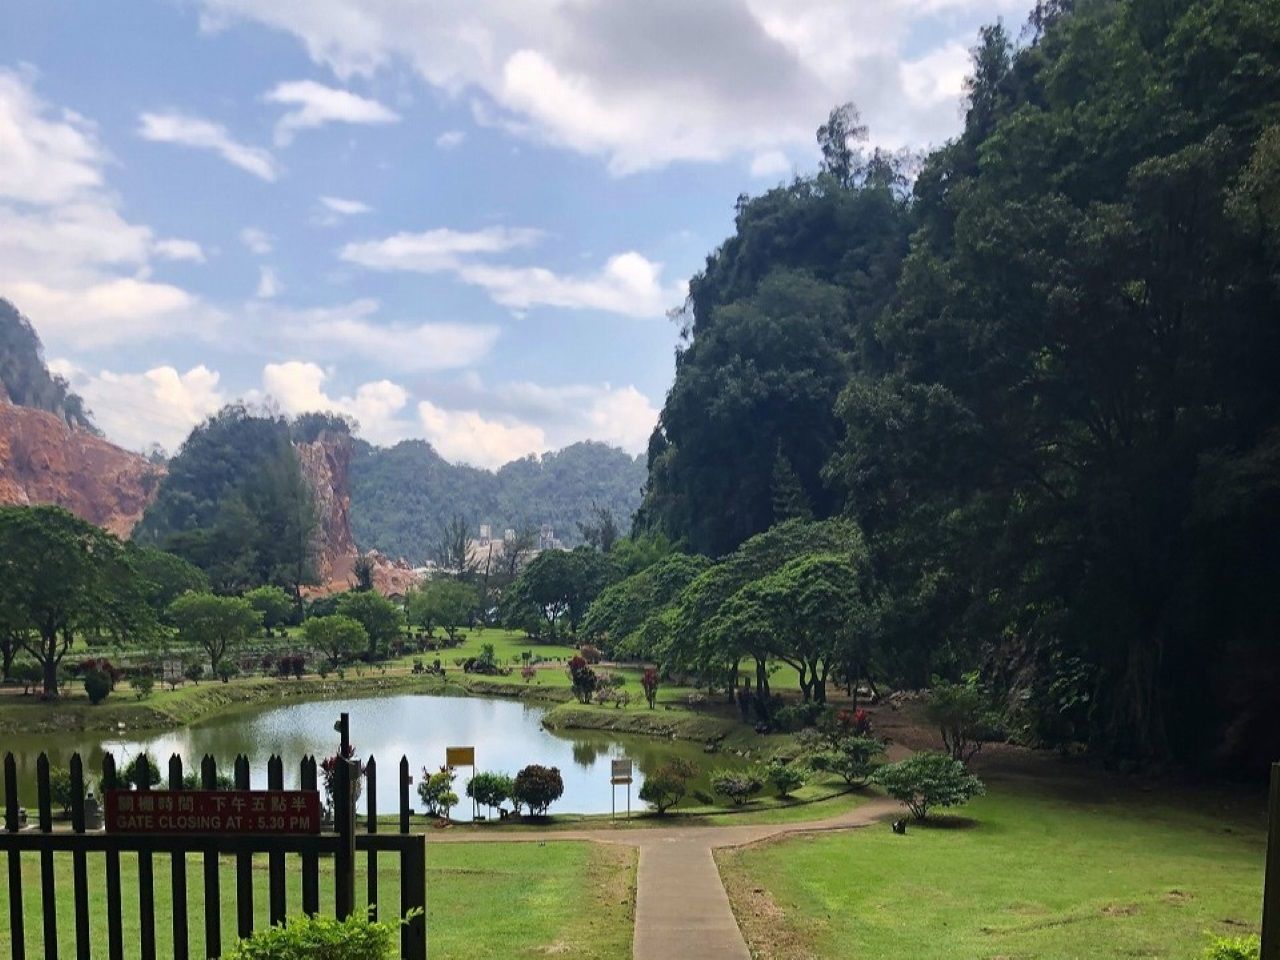
[[[142,776],[136,777],[138,790],[150,790],[146,758],[140,756]],[[183,788],[182,758],[169,759],[168,786]],[[173,957],[189,960],[201,956],[191,943],[187,896],[187,856],[200,858],[204,867],[204,954],[218,957],[223,952],[221,911],[223,893],[219,860],[233,856],[236,863],[236,918],[237,934],[248,937],[253,932],[253,855],[268,858],[268,904],[271,924],[283,923],[287,913],[285,858],[297,856],[301,863],[302,911],[320,913],[320,858],[332,858],[334,864],[334,915],[349,916],[356,909],[356,852],[366,855],[366,899],[370,915],[379,914],[378,865],[379,855],[399,859],[399,910],[397,918],[410,915],[401,928],[401,956],[404,960],[426,957],[426,837],[410,832],[410,772],[408,759],[399,763],[399,823],[397,832],[378,832],[378,764],[370,758],[365,765],[365,824],[356,824],[353,786],[358,777],[353,762],[337,764],[334,771],[333,829],[319,835],[201,835],[201,833],[106,833],[86,828],[84,768],[79,754],[70,760],[70,823],[54,827],[52,791],[49,758],[41,754],[36,764],[37,822],[28,827],[19,823],[18,771],[13,754],[4,759],[5,828],[0,831],[0,852],[8,859],[9,943],[13,960],[27,960],[23,896],[22,854],[40,855],[40,909],[44,931],[44,956],[56,960],[58,911],[55,854],[69,854],[72,860],[74,915],[74,942],[78,960],[101,956],[101,945],[95,948],[90,925],[90,854],[101,854],[105,860],[106,895],[106,956],[124,960],[123,904],[120,881],[120,854],[137,854],[137,908],[138,946],[131,956],[142,960],[156,957],[156,856],[169,859],[169,884],[172,890]],[[273,756],[266,768],[268,790],[284,788],[284,765]],[[316,790],[317,768],[314,756],[302,759],[300,769],[302,790]],[[102,760],[102,783],[116,783],[115,760],[110,755]],[[205,790],[218,787],[218,765],[212,756],[200,764],[200,782]],[[248,758],[238,756],[234,764],[234,786],[248,790]],[[161,881],[163,882],[163,881]],[[0,932],[3,937],[3,932]],[[230,945],[227,945],[230,946]]]

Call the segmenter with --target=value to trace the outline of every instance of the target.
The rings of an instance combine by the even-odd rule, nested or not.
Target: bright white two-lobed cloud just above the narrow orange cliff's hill
[[[376,444],[392,444],[413,433],[411,421],[397,419],[408,403],[408,392],[390,380],[375,380],[356,388],[355,396],[330,397],[329,375],[317,365],[298,360],[262,367],[262,389],[289,415],[333,410],[360,422],[360,434]]]

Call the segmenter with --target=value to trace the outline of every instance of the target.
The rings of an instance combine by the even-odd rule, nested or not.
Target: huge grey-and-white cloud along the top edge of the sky
[[[1028,9],[1025,0],[540,0],[535,12],[526,0],[201,1],[206,28],[256,20],[284,31],[340,78],[407,64],[465,97],[477,120],[602,156],[616,174],[813,151],[814,129],[845,100],[883,146],[938,142],[959,127],[959,91],[948,81],[937,97],[918,96],[936,58],[950,63],[982,23]]]

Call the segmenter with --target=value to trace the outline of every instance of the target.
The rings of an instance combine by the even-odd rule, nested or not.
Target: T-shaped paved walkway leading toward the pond
[[[618,831],[458,831],[433,835],[429,842],[590,840],[639,847],[634,960],[750,960],[712,851],[790,833],[865,827],[901,809],[892,800],[877,799],[838,817],[805,823]]]

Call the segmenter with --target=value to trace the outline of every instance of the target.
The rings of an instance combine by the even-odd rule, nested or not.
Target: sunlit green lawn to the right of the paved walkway
[[[1261,823],[1021,781],[963,817],[721,851],[753,956],[1172,960],[1201,956],[1208,932],[1257,932]]]

